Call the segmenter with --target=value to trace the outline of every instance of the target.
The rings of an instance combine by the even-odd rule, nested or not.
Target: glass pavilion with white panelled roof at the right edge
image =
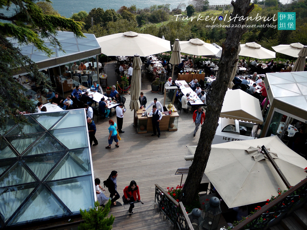
[[[260,137],[278,135],[283,140],[293,136],[293,124],[307,124],[307,72],[267,73],[264,82],[270,109]]]

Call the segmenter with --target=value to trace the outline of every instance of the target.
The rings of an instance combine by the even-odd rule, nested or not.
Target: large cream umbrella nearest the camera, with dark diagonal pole
[[[290,182],[306,178],[307,160],[288,148],[278,136],[213,144],[205,174],[229,208],[254,204],[277,196],[286,185],[258,148],[264,145]],[[196,146],[188,146],[194,154]]]

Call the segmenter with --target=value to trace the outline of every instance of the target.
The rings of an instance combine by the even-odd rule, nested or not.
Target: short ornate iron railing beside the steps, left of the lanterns
[[[171,221],[171,223],[180,230],[193,230],[192,224],[185,212],[185,207],[182,202],[177,202],[159,185],[155,184],[155,198],[154,201],[158,205],[160,211]]]

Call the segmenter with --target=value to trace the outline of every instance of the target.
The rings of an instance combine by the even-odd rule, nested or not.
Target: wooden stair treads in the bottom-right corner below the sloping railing
[[[270,230],[306,230],[307,229],[307,205],[297,209],[290,217],[286,217]]]

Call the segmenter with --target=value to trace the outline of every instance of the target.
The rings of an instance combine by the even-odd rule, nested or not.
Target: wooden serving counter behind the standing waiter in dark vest
[[[179,114],[177,113],[175,106],[173,106],[173,109],[175,110],[173,114],[166,115],[164,112],[162,113],[163,117],[159,124],[160,130],[177,131]],[[148,109],[147,116],[142,116],[142,114],[145,112],[143,109],[138,109],[136,111],[138,133],[147,133],[153,131],[151,122],[152,116],[149,116],[150,111],[151,110]]]

